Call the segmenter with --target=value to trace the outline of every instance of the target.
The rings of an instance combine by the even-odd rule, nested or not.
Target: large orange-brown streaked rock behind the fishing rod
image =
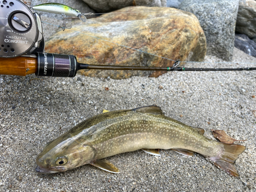
[[[148,13],[141,13],[142,10]],[[46,44],[46,52],[73,54],[79,62],[94,65],[170,67],[174,61],[165,58],[181,61],[204,59],[206,40],[195,15],[166,7],[127,7],[117,12],[137,13],[105,14],[87,23],[79,22],[71,30],[60,31],[52,36]],[[88,76],[110,76],[116,79],[134,75],[157,77],[163,73],[113,70],[83,72]]]

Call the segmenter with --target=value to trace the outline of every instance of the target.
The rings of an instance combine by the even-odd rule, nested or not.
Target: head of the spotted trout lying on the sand
[[[58,139],[58,138],[57,138]],[[96,150],[89,144],[77,143],[72,139],[48,143],[36,158],[36,172],[51,174],[66,172],[95,160]]]

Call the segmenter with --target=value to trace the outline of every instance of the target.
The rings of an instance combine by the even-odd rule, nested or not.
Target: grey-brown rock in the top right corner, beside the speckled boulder
[[[245,34],[249,38],[256,37],[256,1],[239,2],[236,32]]]

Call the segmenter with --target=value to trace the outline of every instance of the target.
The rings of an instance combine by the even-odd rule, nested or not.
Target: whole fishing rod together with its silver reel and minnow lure
[[[178,67],[179,61],[172,59],[168,59],[170,63],[174,63],[169,67],[131,67],[79,63],[74,55],[44,53],[45,40],[42,34],[41,20],[40,16],[34,10],[61,13],[63,29],[67,28],[65,23],[66,14],[77,16],[83,22],[86,22],[84,15],[91,15],[91,13],[81,13],[71,7],[56,3],[41,4],[32,7],[32,9],[18,0],[13,0],[9,4],[7,1],[0,1],[0,4],[2,8],[2,12],[0,12],[0,74],[2,75],[26,76],[36,74],[36,76],[74,77],[77,71],[82,69],[136,71],[256,70],[256,68],[181,68]]]

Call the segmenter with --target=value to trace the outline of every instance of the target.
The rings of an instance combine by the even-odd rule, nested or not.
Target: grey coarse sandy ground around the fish
[[[207,56],[205,61],[222,60]],[[233,61],[186,67],[256,67],[256,58],[234,49]],[[158,78],[124,80],[0,76],[1,191],[255,191],[256,72],[169,72]],[[109,91],[105,88],[108,87]],[[162,88],[162,89],[160,89]],[[239,178],[203,156],[161,150],[106,158],[120,174],[84,165],[65,173],[39,175],[35,159],[47,142],[103,110],[161,106],[166,116],[190,126],[225,130],[247,149],[236,161]],[[254,113],[254,114],[253,114]]]

